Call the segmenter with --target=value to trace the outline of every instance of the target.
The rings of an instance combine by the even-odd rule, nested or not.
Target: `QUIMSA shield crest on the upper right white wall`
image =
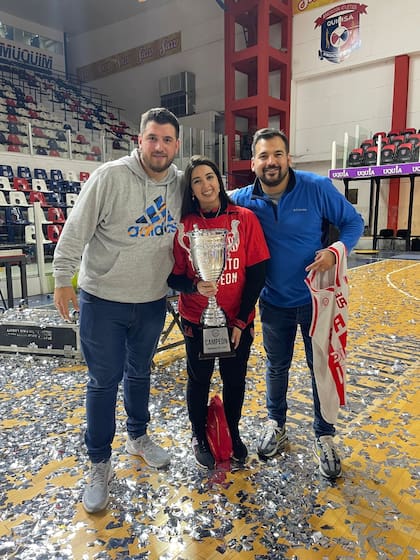
[[[315,29],[321,27],[320,60],[340,63],[361,45],[359,17],[366,14],[366,4],[340,4],[315,20]]]

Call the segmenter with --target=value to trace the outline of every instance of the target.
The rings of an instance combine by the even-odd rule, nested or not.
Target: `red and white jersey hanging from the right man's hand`
[[[310,335],[321,414],[326,422],[335,424],[340,406],[346,404],[349,289],[344,244],[337,241],[328,250],[335,255],[335,267],[326,272],[311,270],[305,283],[312,297]]]

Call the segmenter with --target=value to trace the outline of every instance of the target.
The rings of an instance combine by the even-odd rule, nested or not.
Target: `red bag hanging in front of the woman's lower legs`
[[[232,455],[232,438],[226,421],[223,402],[219,395],[210,399],[207,411],[206,435],[216,463],[228,461]]]

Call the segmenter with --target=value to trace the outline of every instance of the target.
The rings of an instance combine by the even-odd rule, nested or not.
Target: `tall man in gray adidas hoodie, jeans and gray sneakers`
[[[83,495],[89,513],[106,508],[119,383],[124,384],[128,453],[164,467],[168,453],[147,435],[150,368],[166,314],[166,279],[180,219],[182,173],[172,163],[179,123],[164,108],[141,116],[138,149],[96,169],[78,196],[54,252],[54,302],[78,311],[88,366],[85,442],[91,460]]]

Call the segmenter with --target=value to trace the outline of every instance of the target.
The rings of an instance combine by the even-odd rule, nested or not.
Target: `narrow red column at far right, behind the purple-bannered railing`
[[[410,59],[408,55],[395,57],[394,63],[394,101],[392,105],[393,130],[404,130],[407,119],[408,77]],[[400,180],[391,179],[388,195],[388,220],[387,227],[396,231],[398,229],[398,206],[400,200]]]

